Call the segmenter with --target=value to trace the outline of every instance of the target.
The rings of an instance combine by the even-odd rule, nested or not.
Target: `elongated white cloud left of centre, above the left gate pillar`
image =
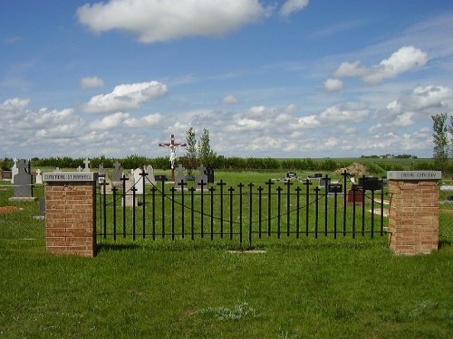
[[[143,102],[163,97],[167,92],[167,85],[158,81],[123,84],[115,87],[111,93],[92,97],[82,105],[82,110],[87,113],[111,113],[140,108]]]

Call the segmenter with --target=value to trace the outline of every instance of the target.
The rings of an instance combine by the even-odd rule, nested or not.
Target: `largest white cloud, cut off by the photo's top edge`
[[[258,0],[111,0],[82,5],[77,17],[95,33],[125,30],[149,43],[225,34],[267,13]]]

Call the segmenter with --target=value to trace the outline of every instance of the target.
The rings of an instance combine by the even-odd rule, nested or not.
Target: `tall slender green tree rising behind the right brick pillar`
[[[433,119],[434,165],[436,169],[445,172],[448,161],[448,125],[447,113],[431,116]],[[450,118],[451,120],[451,118]],[[451,123],[451,121],[450,121]]]

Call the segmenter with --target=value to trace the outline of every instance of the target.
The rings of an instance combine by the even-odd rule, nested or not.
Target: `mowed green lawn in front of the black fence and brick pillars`
[[[249,181],[244,181],[248,183]],[[38,202],[0,214],[0,337],[449,338],[452,227],[441,249],[394,256],[387,237],[104,245],[45,253]]]

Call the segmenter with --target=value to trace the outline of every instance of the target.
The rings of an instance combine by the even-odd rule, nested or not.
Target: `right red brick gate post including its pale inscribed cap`
[[[390,249],[428,254],[439,248],[440,171],[390,171]]]

